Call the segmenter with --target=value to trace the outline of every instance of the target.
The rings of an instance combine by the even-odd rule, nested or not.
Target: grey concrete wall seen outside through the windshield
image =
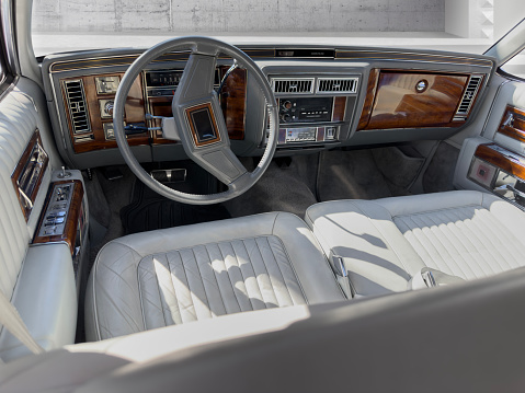
[[[34,0],[37,32],[444,32],[445,0]]]

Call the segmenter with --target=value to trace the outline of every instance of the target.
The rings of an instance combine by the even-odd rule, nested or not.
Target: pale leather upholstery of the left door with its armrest
[[[31,91],[31,96],[25,90]],[[37,128],[46,151],[50,155],[55,152],[47,122],[39,116],[32,97],[39,99],[41,108],[45,108],[45,99],[42,92],[33,94],[35,90],[33,82],[21,78],[0,102],[0,291],[18,309],[35,340],[48,350],[73,343],[77,297],[69,247],[30,247],[57,159],[50,158],[27,222],[11,181]],[[0,326],[0,359],[9,361],[28,352]]]

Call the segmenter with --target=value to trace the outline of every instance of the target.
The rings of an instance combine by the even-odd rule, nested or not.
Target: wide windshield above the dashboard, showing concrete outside
[[[45,56],[209,35],[232,44],[482,54],[523,18],[521,1],[34,0],[33,46],[36,56]]]

